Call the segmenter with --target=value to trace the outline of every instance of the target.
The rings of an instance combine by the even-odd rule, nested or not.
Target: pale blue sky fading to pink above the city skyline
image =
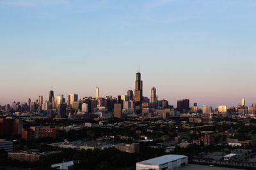
[[[143,95],[256,103],[255,0],[0,0],[0,104]]]

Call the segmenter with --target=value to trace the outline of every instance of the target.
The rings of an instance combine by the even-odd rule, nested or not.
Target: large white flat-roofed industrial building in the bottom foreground
[[[144,160],[136,164],[136,170],[176,170],[188,164],[188,157],[184,155],[164,155],[154,159]]]

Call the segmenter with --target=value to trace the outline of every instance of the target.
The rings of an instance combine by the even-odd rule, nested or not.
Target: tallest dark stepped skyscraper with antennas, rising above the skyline
[[[136,74],[135,81],[135,92],[134,92],[134,101],[136,104],[141,104],[143,102],[143,81],[141,81],[141,74]]]

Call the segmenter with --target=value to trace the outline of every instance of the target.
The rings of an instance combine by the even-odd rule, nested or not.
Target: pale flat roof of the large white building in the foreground
[[[162,157],[156,157],[154,159],[148,159],[148,160],[144,160],[142,162],[138,162],[138,164],[150,164],[150,165],[162,165],[162,164],[166,164],[168,162],[172,162],[175,160],[179,160],[179,159],[184,159],[187,156],[184,155],[164,155]]]

